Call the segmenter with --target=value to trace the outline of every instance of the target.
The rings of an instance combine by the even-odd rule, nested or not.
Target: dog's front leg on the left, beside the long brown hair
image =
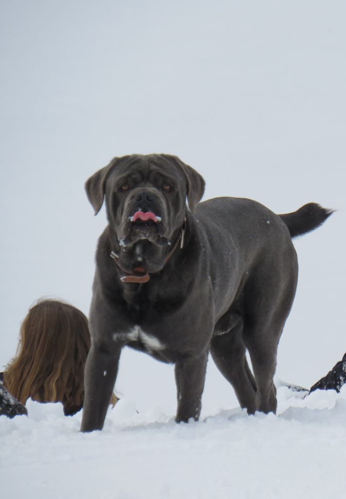
[[[102,430],[118,373],[121,348],[90,348],[84,371],[82,432]]]

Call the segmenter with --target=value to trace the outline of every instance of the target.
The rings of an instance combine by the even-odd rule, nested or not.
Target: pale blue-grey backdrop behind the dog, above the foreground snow
[[[35,299],[88,313],[106,219],[93,218],[85,180],[113,156],[165,152],[204,176],[205,199],[338,210],[295,244],[277,370],[309,386],[326,374],[346,350],[346,3],[0,5],[0,366]],[[126,352],[117,385],[138,404],[169,404],[172,367]],[[210,362],[205,400],[228,396]]]

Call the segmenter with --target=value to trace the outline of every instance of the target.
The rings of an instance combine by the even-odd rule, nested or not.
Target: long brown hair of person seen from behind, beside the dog
[[[4,373],[5,388],[21,403],[61,402],[65,416],[83,406],[84,366],[90,349],[88,319],[78,308],[41,300],[30,308],[16,356]],[[111,402],[117,398],[113,394]]]

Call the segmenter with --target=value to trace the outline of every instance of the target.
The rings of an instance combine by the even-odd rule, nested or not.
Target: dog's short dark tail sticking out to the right
[[[291,238],[302,236],[322,225],[334,210],[322,208],[317,203],[308,203],[296,212],[279,215],[290,231]]]

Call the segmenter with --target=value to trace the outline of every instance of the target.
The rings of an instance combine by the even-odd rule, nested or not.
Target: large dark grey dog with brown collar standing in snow
[[[198,204],[202,177],[166,154],[114,158],[85,187],[95,215],[106,199],[109,225],[96,254],[81,430],[102,429],[125,345],[174,363],[177,422],[199,417],[209,351],[241,407],[275,413],[277,347],[298,276],[291,238],[332,212]]]

